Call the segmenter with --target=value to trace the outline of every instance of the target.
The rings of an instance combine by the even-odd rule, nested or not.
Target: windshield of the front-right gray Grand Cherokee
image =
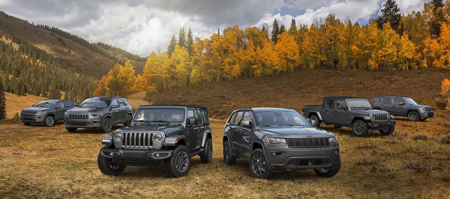
[[[255,121],[261,126],[307,126],[311,123],[297,111],[257,111]]]

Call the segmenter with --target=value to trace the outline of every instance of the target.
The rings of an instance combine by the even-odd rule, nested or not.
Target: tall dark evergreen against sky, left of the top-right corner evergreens
[[[401,14],[398,13],[400,9],[395,0],[387,0],[383,4],[384,8],[381,9],[381,16],[378,17],[378,28],[383,28],[383,25],[387,22],[391,23],[391,27],[394,30],[398,29],[401,20]]]

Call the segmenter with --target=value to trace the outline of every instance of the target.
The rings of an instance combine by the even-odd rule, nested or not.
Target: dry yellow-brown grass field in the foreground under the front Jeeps
[[[96,158],[107,134],[98,131],[70,133],[62,122],[0,125],[0,198],[449,198],[450,145],[441,137],[396,131],[357,138],[347,128],[324,127],[339,139],[338,175],[322,178],[298,170],[260,180],[243,159],[233,166],[222,162],[223,124],[211,121],[212,163],[196,156],[189,175],[176,179],[167,178],[162,166],[103,175]]]

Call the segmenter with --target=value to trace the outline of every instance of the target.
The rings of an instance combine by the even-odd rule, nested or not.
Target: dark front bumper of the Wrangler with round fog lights
[[[173,150],[158,149],[100,149],[100,154],[113,159],[116,163],[127,166],[151,166],[171,158]]]

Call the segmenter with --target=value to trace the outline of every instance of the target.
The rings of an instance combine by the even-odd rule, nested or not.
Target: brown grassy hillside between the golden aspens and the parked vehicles
[[[153,104],[196,104],[208,108],[212,118],[225,119],[243,107],[285,107],[301,111],[307,104],[322,104],[325,96],[364,97],[377,95],[410,96],[419,104],[436,109],[436,118],[426,122],[406,122],[403,127],[425,134],[447,133],[450,111],[441,97],[441,81],[450,70],[427,68],[413,71],[336,71],[305,70],[274,77],[241,79],[221,84],[206,84],[169,90],[158,94]],[[433,126],[441,128],[434,128]],[[400,127],[401,128],[401,127]],[[344,128],[345,129],[345,128]],[[345,130],[347,131],[347,130]]]

